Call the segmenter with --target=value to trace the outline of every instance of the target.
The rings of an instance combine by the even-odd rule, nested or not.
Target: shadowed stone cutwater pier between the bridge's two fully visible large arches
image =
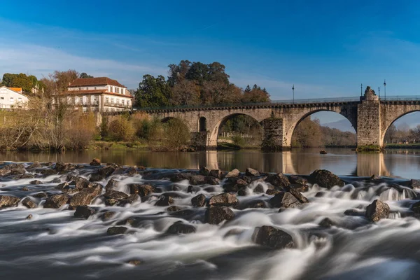
[[[289,150],[290,145],[286,146],[285,126],[282,118],[267,118],[262,120],[262,150],[265,151],[284,151]]]

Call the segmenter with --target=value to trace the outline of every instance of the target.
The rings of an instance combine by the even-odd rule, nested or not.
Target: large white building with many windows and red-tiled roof
[[[132,95],[127,87],[106,77],[77,78],[67,87],[71,104],[83,111],[127,111],[132,109]]]

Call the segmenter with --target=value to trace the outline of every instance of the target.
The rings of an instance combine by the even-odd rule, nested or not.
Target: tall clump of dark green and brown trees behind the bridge
[[[169,76],[144,75],[134,92],[139,107],[197,106],[269,102],[269,93],[258,85],[242,90],[230,83],[225,65],[181,60],[169,64]]]

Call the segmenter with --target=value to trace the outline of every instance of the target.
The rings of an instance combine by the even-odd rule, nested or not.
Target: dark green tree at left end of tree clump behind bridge
[[[140,107],[162,107],[169,106],[172,97],[172,89],[164,76],[155,78],[151,75],[144,75],[139,83],[139,88],[134,92],[137,106]]]

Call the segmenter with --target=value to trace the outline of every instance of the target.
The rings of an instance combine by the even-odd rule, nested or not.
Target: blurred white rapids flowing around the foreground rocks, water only
[[[25,164],[29,166],[29,164]],[[164,172],[160,170],[159,172]],[[165,171],[172,172],[172,171]],[[35,172],[31,172],[35,174]],[[74,174],[89,179],[92,167],[76,169]],[[111,177],[99,181],[103,186]],[[176,193],[174,204],[194,213],[184,217],[169,214],[167,207],[155,206],[158,195],[125,207],[106,206],[97,197],[90,207],[97,214],[87,220],[74,218],[66,204],[60,209],[45,209],[45,198],[35,198],[38,207],[0,210],[0,276],[4,279],[419,279],[420,221],[410,213],[416,191],[390,188],[392,180],[381,183],[356,181],[330,190],[309,184],[302,193],[309,199],[299,209],[233,209],[235,218],[219,225],[204,223],[205,207],[194,208],[191,198],[207,198],[223,193],[221,186],[208,193],[200,186],[187,193],[188,181],[146,180],[112,176],[118,190],[130,194],[129,183],[149,183],[162,191]],[[45,192],[59,193],[53,179],[64,181],[66,174],[34,179],[0,181],[0,195],[20,198]],[[347,178],[347,181],[351,178]],[[223,181],[221,182],[223,183]],[[253,193],[258,182],[249,185],[248,195],[238,196],[239,204],[269,200],[271,195]],[[267,183],[261,183],[264,191]],[[176,190],[174,189],[176,186]],[[29,190],[22,190],[27,187]],[[207,189],[208,190],[208,189]],[[104,192],[104,190],[103,190]],[[386,202],[389,218],[371,223],[364,217],[373,200]],[[102,221],[102,210],[116,211]],[[344,211],[353,209],[355,216]],[[29,214],[32,218],[25,219]],[[335,224],[318,225],[323,218]],[[135,218],[135,223],[125,223]],[[166,235],[176,221],[195,226],[188,235]],[[123,225],[125,235],[106,235],[111,226]],[[274,250],[255,244],[256,227],[271,225],[288,232],[296,248]],[[141,260],[130,265],[129,260]]]

